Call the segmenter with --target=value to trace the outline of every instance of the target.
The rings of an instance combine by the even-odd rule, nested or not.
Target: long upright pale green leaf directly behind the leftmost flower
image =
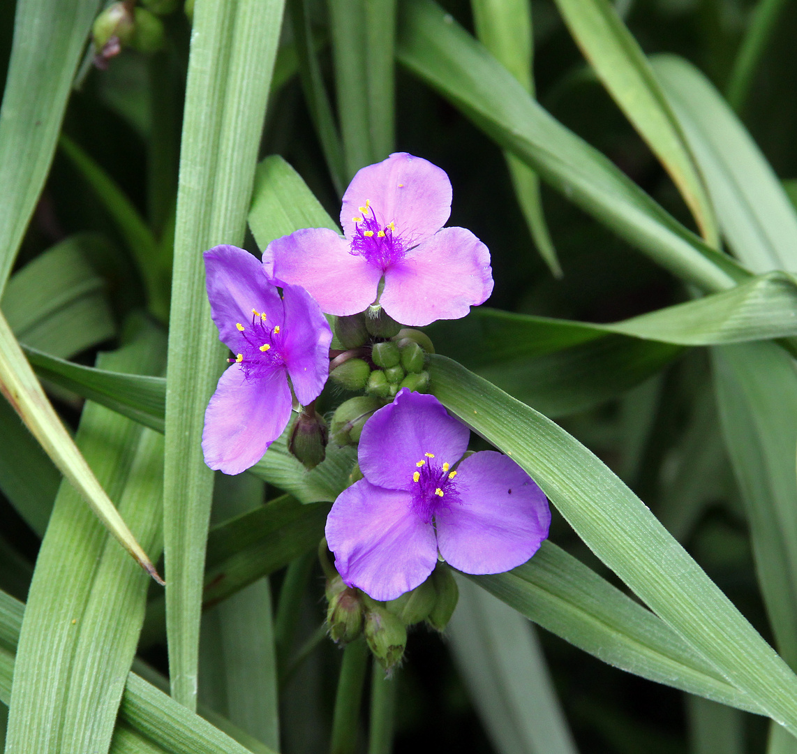
[[[280,36],[282,0],[197,3],[175,224],[163,507],[171,689],[194,709],[202,571],[213,474],[205,409],[224,365],[202,251],[241,245]]]

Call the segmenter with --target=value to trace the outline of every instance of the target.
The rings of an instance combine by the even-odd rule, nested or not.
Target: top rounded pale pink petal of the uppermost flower
[[[421,243],[446,224],[451,214],[451,182],[446,171],[422,157],[395,152],[368,165],[351,179],[340,210],[340,226],[352,238],[366,200],[381,226],[395,222],[404,247]],[[371,303],[370,301],[368,303]]]

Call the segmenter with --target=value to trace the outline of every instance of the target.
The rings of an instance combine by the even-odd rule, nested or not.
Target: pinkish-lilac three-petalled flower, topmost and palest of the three
[[[446,172],[398,152],[352,179],[340,210],[345,238],[297,230],[269,244],[263,265],[269,279],[302,285],[330,314],[357,314],[378,298],[402,324],[456,320],[492,293],[493,273],[476,236],[442,227],[450,210]]]

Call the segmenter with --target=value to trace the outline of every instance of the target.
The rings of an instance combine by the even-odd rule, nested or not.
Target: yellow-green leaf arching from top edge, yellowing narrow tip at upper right
[[[556,0],[584,57],[661,160],[709,245],[719,234],[709,196],[645,54],[608,0]]]

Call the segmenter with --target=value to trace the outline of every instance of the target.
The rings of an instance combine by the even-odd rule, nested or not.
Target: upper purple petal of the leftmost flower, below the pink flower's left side
[[[252,320],[252,309],[266,312],[269,323],[281,324],[282,302],[263,273],[257,257],[238,246],[220,245],[206,251],[207,297],[222,343],[237,348],[236,324]]]

